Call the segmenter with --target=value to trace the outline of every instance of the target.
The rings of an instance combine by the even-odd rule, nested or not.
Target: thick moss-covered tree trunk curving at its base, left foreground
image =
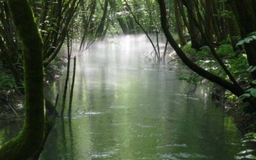
[[[0,148],[0,159],[31,157],[42,144],[45,130],[42,38],[27,0],[9,0],[13,22],[23,43],[25,122],[19,136]]]

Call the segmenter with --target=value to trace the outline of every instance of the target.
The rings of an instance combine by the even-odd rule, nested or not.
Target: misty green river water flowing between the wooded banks
[[[40,159],[234,159],[241,134],[209,92],[187,97],[175,72],[143,61],[149,51],[145,36],[129,35],[79,55],[72,118],[57,118]]]

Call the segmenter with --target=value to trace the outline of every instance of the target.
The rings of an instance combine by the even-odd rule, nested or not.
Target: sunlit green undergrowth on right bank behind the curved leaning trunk
[[[182,47],[182,50],[188,54],[191,60],[200,65],[200,67],[225,79],[228,78],[218,62],[211,56],[211,51],[208,46],[203,46],[200,51],[196,51],[191,47],[191,44],[186,44]],[[236,56],[236,52],[233,51],[232,45],[228,44],[228,40],[223,41],[220,46],[216,47],[216,53],[223,57],[225,65],[227,65],[228,70],[230,70],[236,79],[244,82],[248,81],[247,77],[249,73],[245,72],[246,68],[248,68],[246,56],[243,56],[243,54]]]

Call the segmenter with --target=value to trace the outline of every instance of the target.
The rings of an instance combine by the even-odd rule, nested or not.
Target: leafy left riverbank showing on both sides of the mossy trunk
[[[50,83],[57,81],[63,72],[63,67],[67,65],[67,57],[62,50],[50,65],[45,68],[45,90],[49,90]],[[1,68],[0,68],[1,70]],[[23,104],[24,96],[19,92],[12,81],[12,74],[4,74],[6,79],[11,79],[7,84],[1,85],[3,90],[0,92],[0,121],[17,122],[22,121],[24,117]],[[3,78],[2,78],[3,80]],[[6,80],[7,81],[7,80]],[[5,80],[2,83],[6,83]]]

